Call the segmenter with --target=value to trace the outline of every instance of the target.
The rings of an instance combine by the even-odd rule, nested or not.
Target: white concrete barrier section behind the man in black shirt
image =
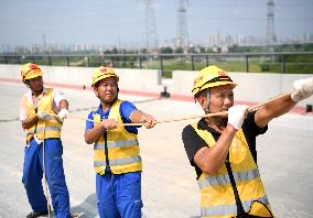
[[[196,73],[192,70],[174,70],[171,94],[192,96],[193,80]],[[312,75],[234,72],[229,73],[229,76],[238,84],[234,89],[236,100],[259,102],[291,90],[295,79],[307,78]],[[305,105],[313,105],[313,97],[300,102],[300,106]]]

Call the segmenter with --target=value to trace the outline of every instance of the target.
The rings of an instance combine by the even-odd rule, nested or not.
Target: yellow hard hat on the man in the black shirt
[[[231,85],[233,88],[237,84],[233,83],[227,72],[218,68],[217,66],[208,66],[198,72],[194,79],[193,95],[197,95],[199,91],[223,85]]]

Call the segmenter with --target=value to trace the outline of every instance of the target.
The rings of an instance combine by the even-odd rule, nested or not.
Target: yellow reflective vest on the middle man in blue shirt
[[[115,119],[122,123],[120,116],[120,103],[117,99],[111,106],[108,119]],[[100,122],[100,115],[94,111],[95,126]],[[137,134],[128,132],[125,127],[119,126],[114,130],[107,130],[107,150],[109,167],[114,174],[142,171],[140,148]],[[101,135],[94,144],[94,166],[96,173],[104,175],[106,173],[106,141]]]

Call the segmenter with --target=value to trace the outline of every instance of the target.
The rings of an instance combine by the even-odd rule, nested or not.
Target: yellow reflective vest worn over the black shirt
[[[193,123],[192,127],[211,148],[215,145],[216,141],[212,133],[199,130],[197,123]],[[237,131],[229,148],[229,163],[245,211],[249,210],[253,200],[261,201],[270,208],[258,166],[242,129]],[[202,173],[197,183],[201,189],[202,217],[230,218],[237,215],[235,195],[225,164],[214,175]]]

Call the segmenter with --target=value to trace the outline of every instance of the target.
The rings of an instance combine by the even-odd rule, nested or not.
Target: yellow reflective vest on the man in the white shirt
[[[56,115],[53,110],[53,89],[47,88],[46,94],[42,96],[42,98],[37,101],[37,112],[46,112],[50,115]],[[35,108],[29,102],[26,96],[23,97],[24,105],[26,107],[26,116],[28,118],[32,118],[36,115]],[[26,143],[33,138],[34,133],[36,138],[40,140],[50,139],[50,138],[61,138],[61,129],[62,123],[56,119],[51,120],[39,120],[37,124],[32,126],[29,129],[25,129]]]

